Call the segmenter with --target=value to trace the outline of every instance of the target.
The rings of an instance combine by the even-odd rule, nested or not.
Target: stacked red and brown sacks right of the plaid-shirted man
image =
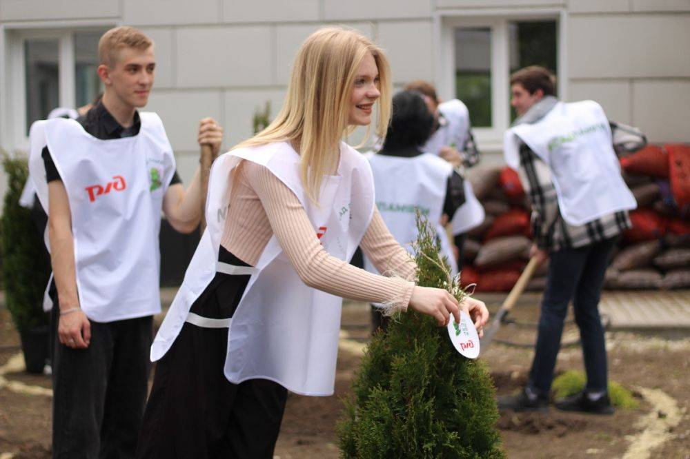
[[[690,146],[649,145],[620,165],[638,208],[605,287],[690,288]]]

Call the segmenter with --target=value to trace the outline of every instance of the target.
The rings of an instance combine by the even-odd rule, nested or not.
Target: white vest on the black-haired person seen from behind
[[[446,183],[453,173],[453,166],[429,153],[412,158],[370,154],[367,159],[374,176],[376,205],[395,241],[414,253],[412,243],[417,241],[415,215],[418,208],[435,225],[442,254],[448,257],[455,275],[455,256],[446,230],[439,223],[446,198]],[[366,256],[364,268],[368,272],[378,272]]]

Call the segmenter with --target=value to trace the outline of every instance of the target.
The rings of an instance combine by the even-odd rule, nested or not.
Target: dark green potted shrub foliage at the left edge
[[[31,211],[19,205],[28,175],[26,159],[5,154],[3,167],[8,179],[0,218],[5,304],[14,325],[22,332],[48,325],[42,305],[50,269],[43,252],[43,236],[32,221]]]

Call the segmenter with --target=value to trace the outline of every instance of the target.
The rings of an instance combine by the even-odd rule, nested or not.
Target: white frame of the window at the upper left
[[[70,21],[64,23],[8,23],[0,26],[0,139],[8,151],[28,152],[26,132],[26,56],[24,43],[30,39],[55,39],[58,42],[59,105],[75,108],[75,33],[117,26],[113,21]],[[4,91],[3,91],[4,90]],[[1,93],[6,94],[5,97]]]

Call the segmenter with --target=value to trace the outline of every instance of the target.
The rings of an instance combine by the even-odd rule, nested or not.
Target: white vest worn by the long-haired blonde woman
[[[324,177],[319,203],[309,201],[299,176],[299,155],[286,142],[233,150],[220,156],[210,172],[208,227],[151,347],[158,360],[172,346],[185,321],[206,327],[228,326],[225,375],[232,383],[273,380],[309,396],[333,394],[342,298],[307,287],[272,236],[254,268],[218,263],[233,168],[245,159],[264,165],[292,190],[314,226],[324,249],[349,261],[374,209],[371,168],[342,143],[336,176]],[[231,320],[214,325],[189,310],[215,272],[251,274]],[[210,322],[210,323],[209,323]]]

